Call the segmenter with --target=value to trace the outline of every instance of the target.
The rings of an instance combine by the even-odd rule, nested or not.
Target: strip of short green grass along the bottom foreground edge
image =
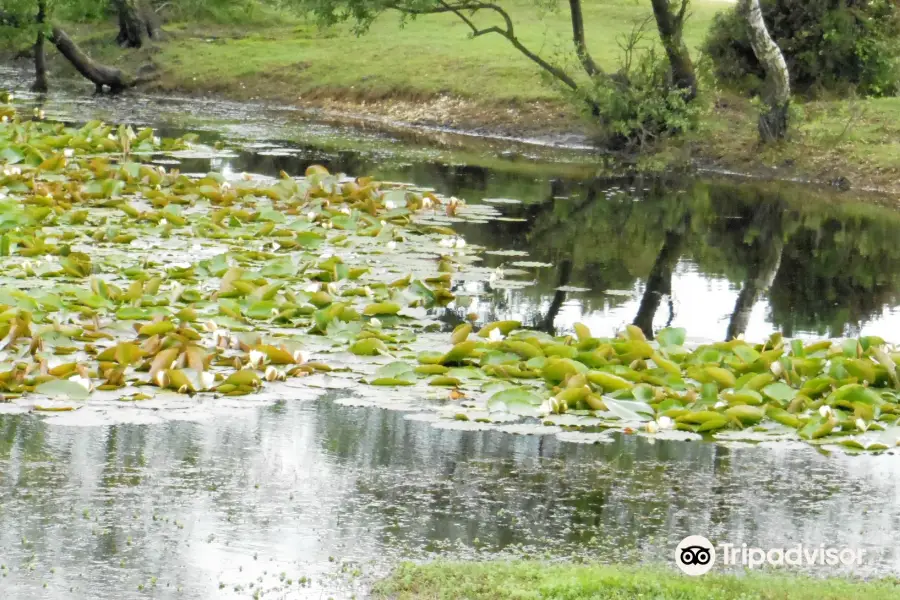
[[[541,563],[403,564],[376,585],[398,600],[889,600],[894,582],[851,582],[752,573],[687,577],[658,568]]]

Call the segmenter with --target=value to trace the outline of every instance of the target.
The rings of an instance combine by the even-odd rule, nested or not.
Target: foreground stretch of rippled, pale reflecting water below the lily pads
[[[56,597],[112,599],[155,585],[209,598],[254,583],[346,597],[401,557],[667,562],[697,532],[865,548],[857,574],[897,574],[897,466],[808,447],[437,429],[330,400],[164,426],[4,416],[0,593],[38,597],[47,583]]]

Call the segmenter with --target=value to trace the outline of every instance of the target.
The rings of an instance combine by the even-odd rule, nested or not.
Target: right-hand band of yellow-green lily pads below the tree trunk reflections
[[[668,328],[647,340],[627,326],[613,338],[593,337],[579,323],[574,334],[552,337],[515,321],[474,333],[463,324],[447,351],[422,352],[406,370],[391,365],[390,379],[372,383],[430,377],[430,385],[467,387],[475,400],[444,413],[459,420],[516,415],[584,431],[871,451],[900,441],[900,352],[881,338],[805,344],[775,334],[761,344],[687,348],[685,336]]]

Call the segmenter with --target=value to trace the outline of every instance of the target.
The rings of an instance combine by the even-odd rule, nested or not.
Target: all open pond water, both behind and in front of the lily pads
[[[0,88],[15,87],[7,76]],[[490,218],[454,223],[487,248],[492,276],[456,284],[471,302],[440,314],[445,331],[474,312],[551,334],[581,322],[603,335],[630,323],[684,327],[694,342],[774,331],[900,339],[890,198],[601,176],[573,149],[277,107],[66,94],[40,104],[67,122],[200,131],[228,150],[180,159],[185,172],[302,175],[323,164],[492,207]],[[695,533],[864,548],[853,574],[900,574],[892,453],[435,426],[348,402],[332,378],[309,385],[314,393],[190,420],[67,426],[0,415],[2,597],[364,597],[401,558],[668,562]]]

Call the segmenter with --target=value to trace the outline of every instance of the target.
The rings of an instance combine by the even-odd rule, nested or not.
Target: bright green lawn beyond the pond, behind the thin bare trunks
[[[515,19],[516,33],[530,48],[552,56],[570,51],[567,10],[541,13],[533,0],[501,2]],[[561,3],[562,7],[564,3]],[[721,1],[696,0],[686,37],[691,47],[703,40]],[[595,58],[613,69],[621,55],[619,40],[651,15],[646,0],[587,0],[587,38]],[[486,15],[481,23],[496,18]],[[197,33],[194,27],[184,31]],[[655,25],[648,23],[648,41]],[[422,97],[450,93],[483,101],[556,99],[542,85],[538,69],[496,34],[468,37],[469,29],[453,15],[419,17],[400,29],[399,16],[385,14],[369,33],[356,37],[348,27],[321,31],[314,24],[266,28],[240,39],[206,42],[182,38],[168,44],[159,61],[199,85],[221,85],[234,79],[274,75],[273,85],[289,84],[298,95],[339,94],[350,97]],[[570,52],[569,52],[570,53]]]

